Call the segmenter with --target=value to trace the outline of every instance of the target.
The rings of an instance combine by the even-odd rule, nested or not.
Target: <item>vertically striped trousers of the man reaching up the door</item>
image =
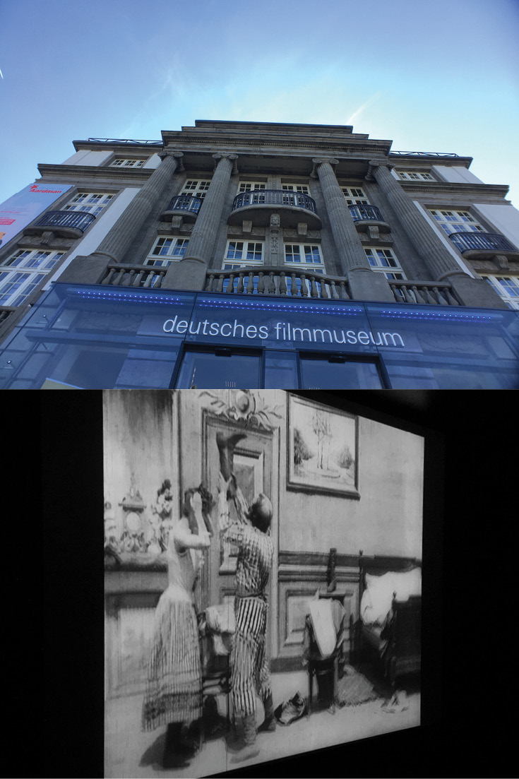
[[[268,606],[260,597],[235,599],[236,631],[231,651],[232,703],[241,714],[254,714],[257,693],[272,693],[267,654]]]

